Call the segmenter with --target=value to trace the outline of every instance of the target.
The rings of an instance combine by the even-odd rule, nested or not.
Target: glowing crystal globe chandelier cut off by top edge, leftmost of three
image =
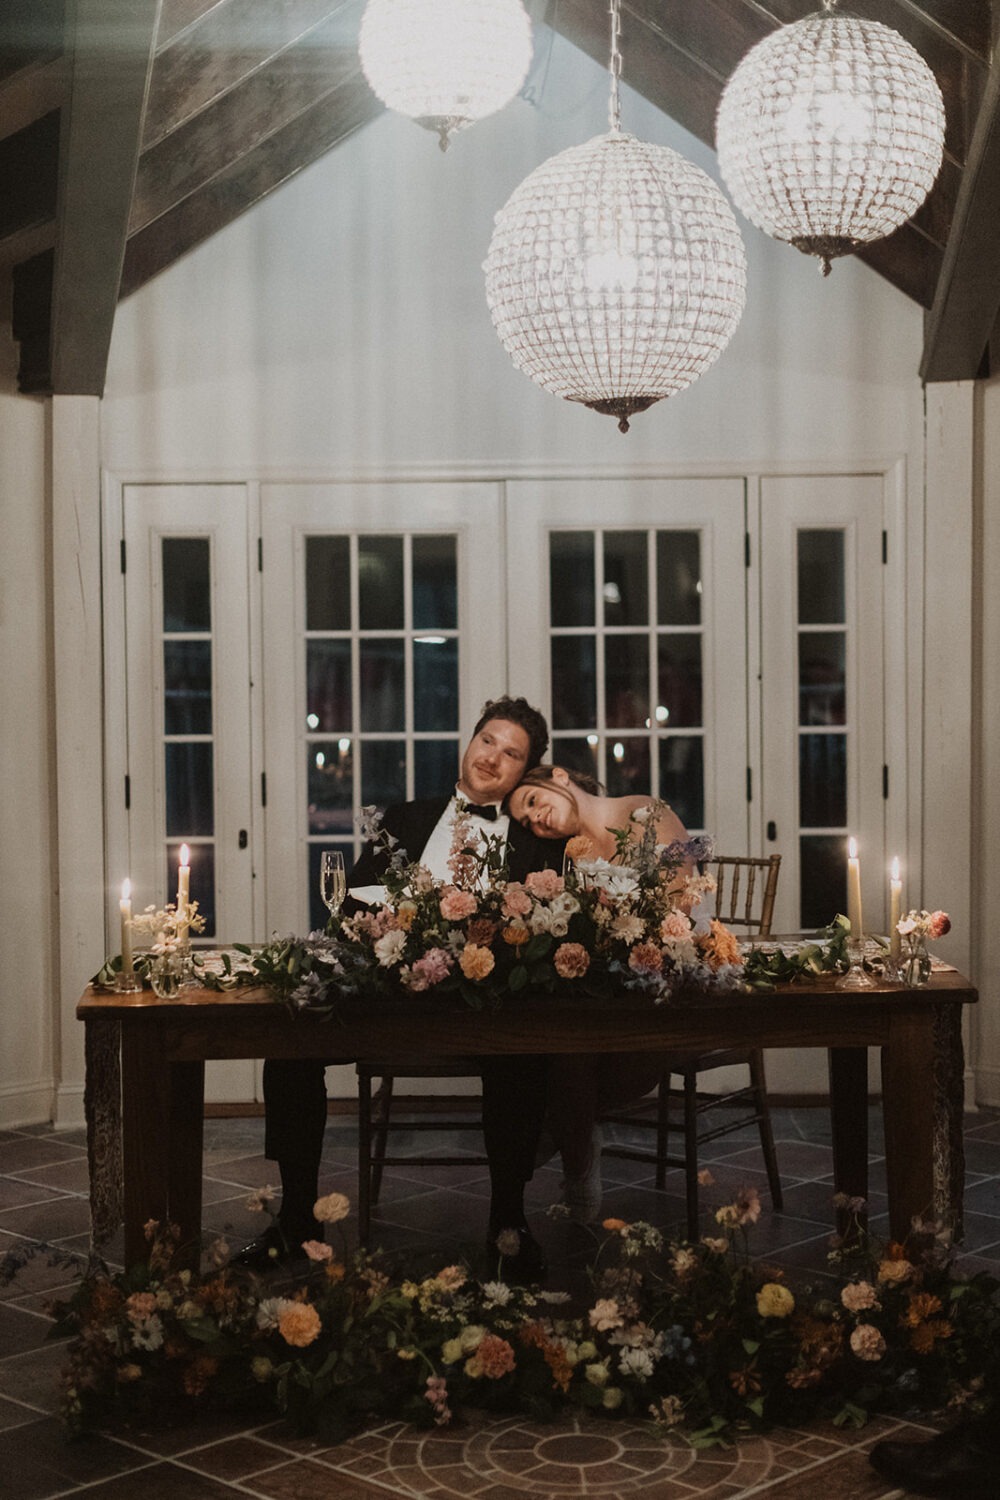
[[[531,66],[522,0],[369,0],[358,40],[369,84],[388,105],[436,130],[454,130],[508,104]]]

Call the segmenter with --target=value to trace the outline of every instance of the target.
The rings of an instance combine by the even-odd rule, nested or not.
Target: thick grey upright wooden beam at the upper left
[[[52,392],[103,393],[159,0],[76,0],[52,272]]]

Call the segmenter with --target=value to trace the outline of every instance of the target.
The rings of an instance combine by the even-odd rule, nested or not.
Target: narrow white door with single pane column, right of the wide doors
[[[885,932],[883,484],[879,474],[760,484],[760,820],[765,849],[783,856],[778,932],[847,909],[850,834],[865,926]]]

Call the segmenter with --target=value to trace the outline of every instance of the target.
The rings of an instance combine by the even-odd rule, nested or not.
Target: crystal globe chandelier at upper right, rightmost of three
[[[753,46],[723,90],[718,165],[757,228],[831,261],[906,224],[934,184],[945,106],[888,26],[823,10]]]

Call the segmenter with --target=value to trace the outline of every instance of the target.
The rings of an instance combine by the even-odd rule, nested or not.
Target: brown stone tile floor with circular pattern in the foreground
[[[784,1184],[784,1210],[765,1209],[754,1233],[757,1254],[814,1280],[825,1274],[831,1227],[829,1116],[823,1108],[777,1110],[775,1134]],[[879,1112],[873,1110],[871,1208],[885,1226]],[[276,1180],[264,1160],[261,1119],[213,1119],[205,1125],[205,1227],[237,1246],[261,1226],[247,1214],[247,1188]],[[421,1146],[427,1138],[421,1140]],[[450,1149],[454,1149],[453,1144]],[[963,1263],[1000,1272],[1000,1113],[966,1119],[967,1192]],[[760,1152],[751,1132],[729,1136],[702,1154],[717,1188],[706,1210],[742,1184],[757,1184],[766,1200]],[[664,1228],[684,1222],[679,1173],[667,1192],[652,1188],[648,1167],[604,1158],[606,1212],[648,1218]],[[327,1130],[322,1191],[355,1194],[355,1130],[333,1118]],[[532,1222],[549,1254],[552,1286],[571,1287],[588,1251],[579,1230],[544,1216],[559,1197],[556,1164],[531,1186]],[[465,1252],[481,1257],[487,1179],[484,1168],[405,1168],[387,1173],[373,1239],[408,1264],[427,1268]],[[574,1238],[576,1236],[576,1238]],[[0,1131],[0,1256],[45,1239],[84,1251],[88,1238],[87,1164],[79,1131]],[[120,1246],[106,1251],[114,1262]],[[3,1500],[222,1500],[226,1494],[273,1500],[376,1500],[385,1496],[636,1497],[636,1500],[888,1500],[867,1462],[880,1437],[924,1436],[927,1428],[895,1419],[861,1432],[823,1425],[748,1438],[732,1449],[696,1454],[664,1444],[636,1424],[564,1420],[540,1425],[517,1416],[472,1414],[433,1432],[391,1422],[348,1443],[322,1446],[289,1432],[282,1422],[205,1420],[196,1426],[67,1442],[57,1416],[58,1344],[46,1342],[45,1302],[67,1290],[66,1269],[33,1260],[0,1288],[0,1496]]]

